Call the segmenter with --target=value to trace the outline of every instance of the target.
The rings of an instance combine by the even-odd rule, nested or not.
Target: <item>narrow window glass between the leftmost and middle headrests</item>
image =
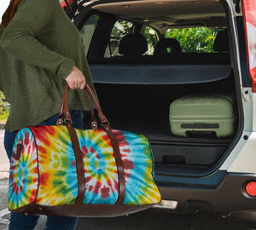
[[[146,37],[148,43],[148,50],[144,55],[153,55],[155,44],[159,41],[157,32],[150,26],[143,26],[141,34]]]

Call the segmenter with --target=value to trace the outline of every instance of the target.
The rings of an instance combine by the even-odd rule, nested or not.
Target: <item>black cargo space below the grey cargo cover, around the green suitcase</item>
[[[93,73],[93,66],[90,67]],[[198,72],[199,66],[195,67]],[[148,137],[154,152],[156,169],[169,167],[170,170],[175,170],[178,165],[211,166],[224,154],[236,134],[237,117],[234,133],[222,138],[218,138],[214,132],[199,132],[187,137],[173,135],[169,121],[170,104],[183,95],[230,92],[235,96],[234,76],[231,70],[223,79],[212,78],[208,83],[95,85],[102,110],[113,129],[131,131]]]

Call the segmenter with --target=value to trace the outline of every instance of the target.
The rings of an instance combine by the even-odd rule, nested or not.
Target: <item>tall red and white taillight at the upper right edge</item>
[[[249,74],[252,78],[253,93],[256,93],[256,1],[242,0],[247,36]]]

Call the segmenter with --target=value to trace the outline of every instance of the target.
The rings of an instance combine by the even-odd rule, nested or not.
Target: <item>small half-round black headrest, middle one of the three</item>
[[[161,39],[154,47],[154,55],[167,54],[167,48],[171,48],[171,53],[180,54],[182,52],[179,42],[174,38]]]

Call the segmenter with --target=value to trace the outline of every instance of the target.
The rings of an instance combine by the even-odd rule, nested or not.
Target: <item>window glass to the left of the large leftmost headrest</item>
[[[110,40],[105,50],[105,58],[119,55],[119,42],[122,37],[132,32],[133,23],[128,20],[117,20],[110,34]]]

